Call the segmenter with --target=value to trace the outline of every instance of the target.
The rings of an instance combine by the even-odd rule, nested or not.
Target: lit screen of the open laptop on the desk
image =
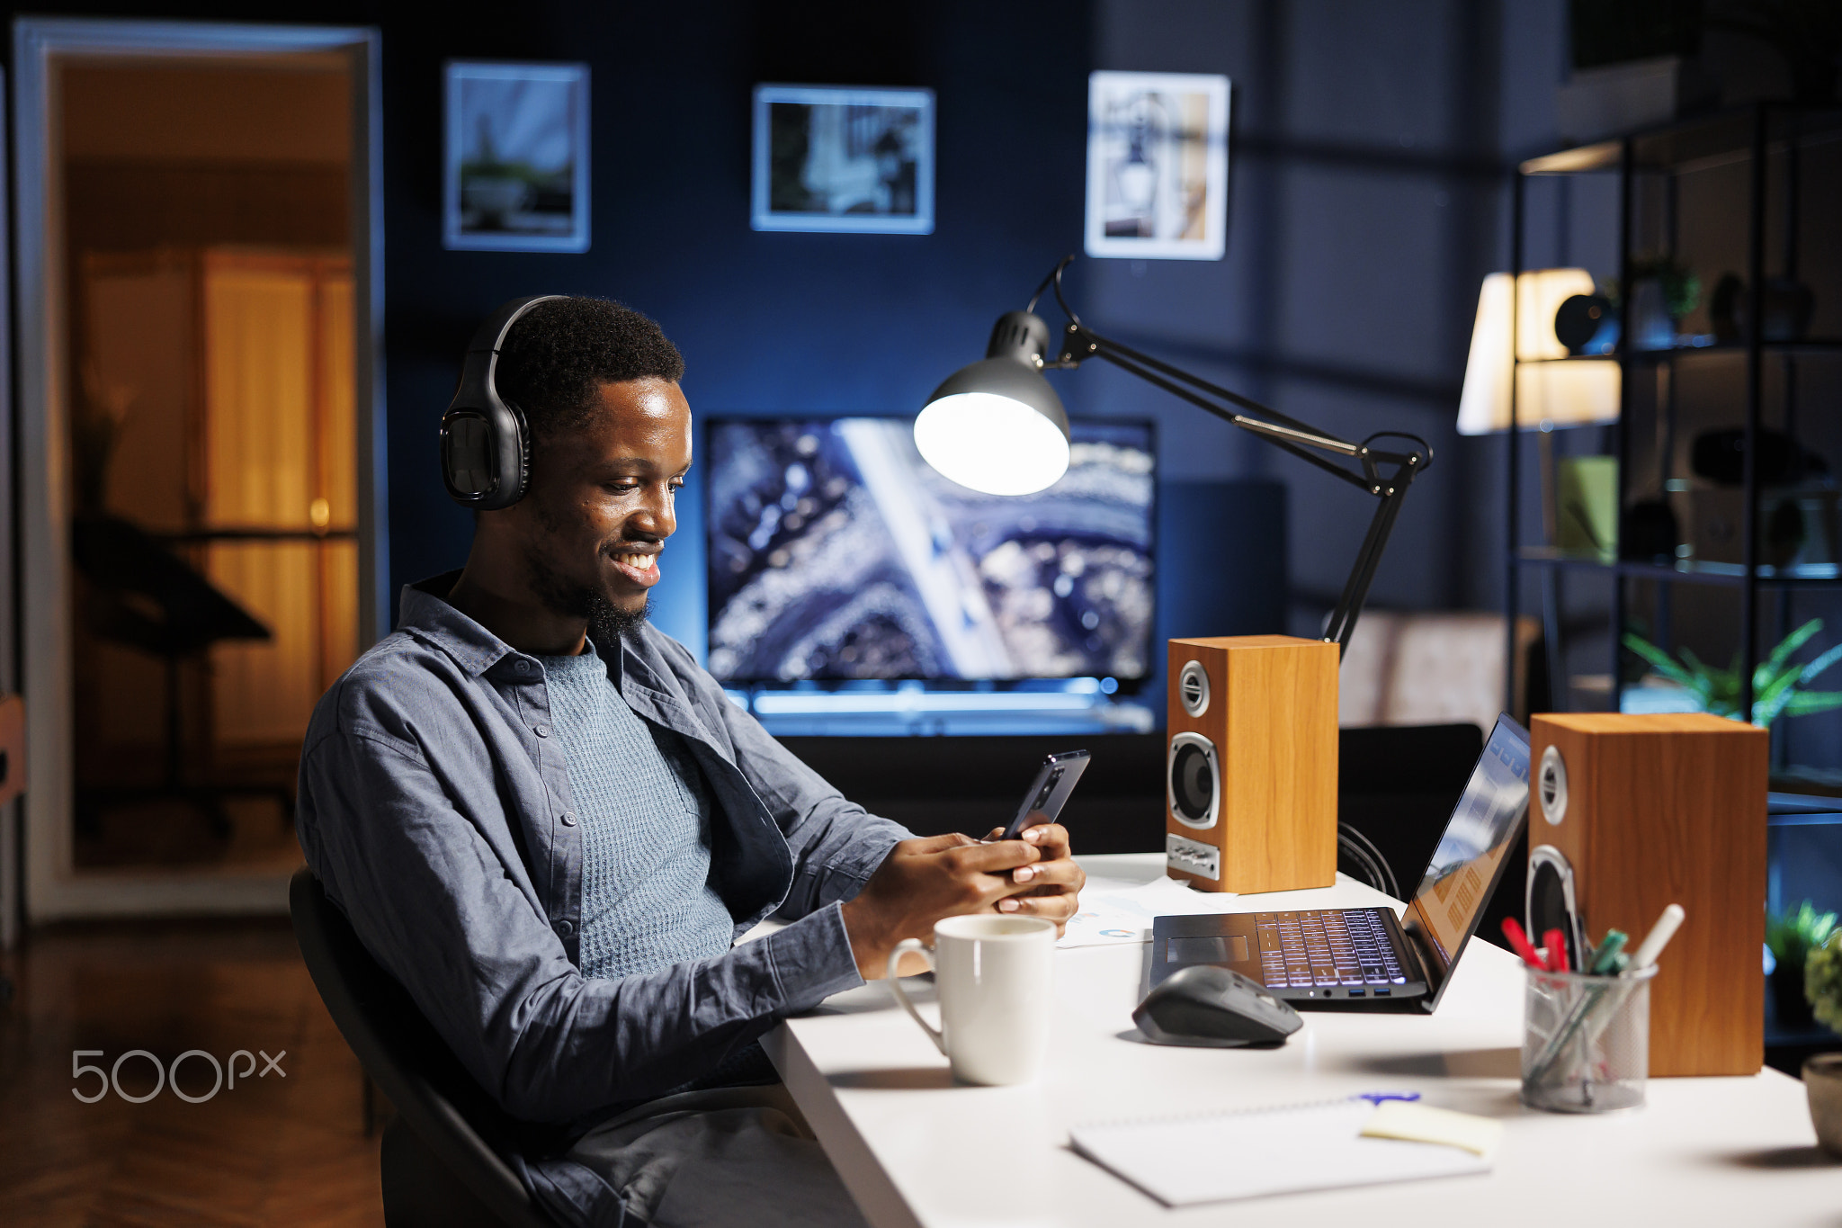
[[[1529,731],[1499,716],[1404,917],[1435,991],[1477,928],[1527,812]]]

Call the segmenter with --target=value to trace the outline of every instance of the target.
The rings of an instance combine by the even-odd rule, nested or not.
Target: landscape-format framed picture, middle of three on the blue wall
[[[934,234],[934,90],[755,87],[755,230]]]

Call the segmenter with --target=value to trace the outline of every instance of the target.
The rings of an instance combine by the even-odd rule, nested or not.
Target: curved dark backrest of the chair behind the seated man
[[[507,1224],[553,1228],[494,1149],[497,1143],[510,1151],[512,1119],[479,1090],[403,987],[370,957],[311,871],[295,875],[287,906],[326,1011],[416,1138]]]

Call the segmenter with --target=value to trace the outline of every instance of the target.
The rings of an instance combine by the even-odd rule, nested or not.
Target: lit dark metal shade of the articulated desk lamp
[[[915,447],[941,475],[987,495],[1032,495],[1068,471],[1068,412],[1043,377],[1048,326],[1011,311],[985,359],[947,377],[915,414]]]

